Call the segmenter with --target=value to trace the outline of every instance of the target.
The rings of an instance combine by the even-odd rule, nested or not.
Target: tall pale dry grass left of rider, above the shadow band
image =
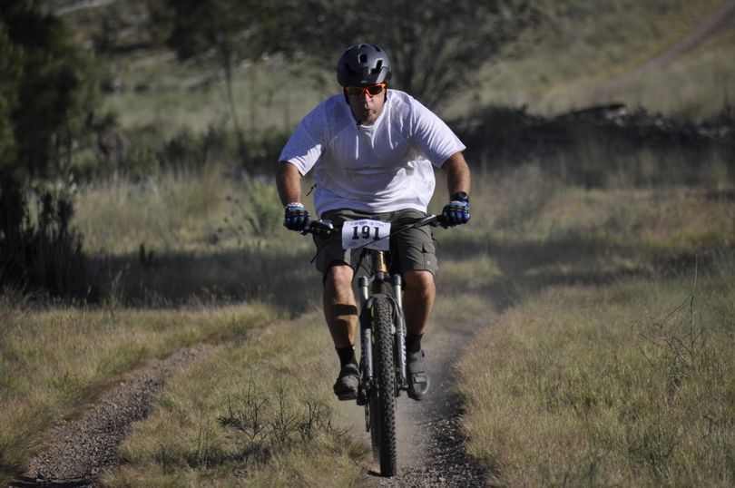
[[[255,191],[279,207],[272,184],[228,178],[217,165],[146,181],[115,177],[79,191],[74,223],[88,253],[135,254],[141,245],[157,253],[237,249],[252,231]]]

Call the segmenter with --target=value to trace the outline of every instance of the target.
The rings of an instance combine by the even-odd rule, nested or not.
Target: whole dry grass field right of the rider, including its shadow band
[[[489,483],[733,483],[727,193],[547,185],[540,204],[524,174],[490,185],[493,223],[451,248],[501,270],[485,291],[505,314],[458,366]]]

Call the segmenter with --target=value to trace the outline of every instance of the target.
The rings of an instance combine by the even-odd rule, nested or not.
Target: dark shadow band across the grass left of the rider
[[[92,301],[134,307],[260,301],[299,314],[320,300],[311,255],[265,250],[90,259]]]

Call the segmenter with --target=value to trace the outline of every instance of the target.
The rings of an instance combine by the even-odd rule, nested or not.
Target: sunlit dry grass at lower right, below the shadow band
[[[548,288],[477,337],[459,389],[491,483],[731,485],[732,264]]]

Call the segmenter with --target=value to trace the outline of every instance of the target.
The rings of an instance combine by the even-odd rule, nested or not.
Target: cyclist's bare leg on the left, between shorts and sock
[[[324,283],[324,318],[335,347],[355,344],[358,306],[352,293],[352,275],[348,265],[332,266]]]

